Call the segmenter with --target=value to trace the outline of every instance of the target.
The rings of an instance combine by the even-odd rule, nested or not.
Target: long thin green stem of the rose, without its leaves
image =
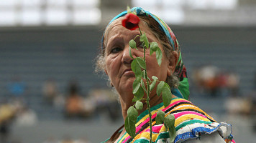
[[[140,27],[139,27],[140,30]],[[140,30],[140,35],[142,35],[142,31]],[[144,61],[146,62],[146,48],[145,48],[145,44],[143,42],[143,51],[144,51]],[[145,68],[145,78],[147,80],[147,110],[148,113],[150,114],[150,143],[152,143],[152,115],[150,112],[150,82],[148,81],[148,77],[147,77],[147,64],[146,64],[146,68]]]

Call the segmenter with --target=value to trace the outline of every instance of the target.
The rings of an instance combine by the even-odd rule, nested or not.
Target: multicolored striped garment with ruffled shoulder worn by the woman
[[[163,124],[155,124],[157,111],[161,109],[165,116],[173,114],[175,117],[175,129],[177,137],[174,142],[183,142],[186,139],[198,138],[201,134],[219,132],[226,142],[234,142],[232,139],[232,126],[227,123],[217,123],[204,111],[193,105],[186,99],[175,98],[168,107],[163,103],[151,108],[152,111],[152,142],[169,142],[169,135]],[[134,142],[146,143],[150,139],[149,114],[146,110],[137,118],[136,137],[132,139],[127,132],[119,139],[119,143]]]

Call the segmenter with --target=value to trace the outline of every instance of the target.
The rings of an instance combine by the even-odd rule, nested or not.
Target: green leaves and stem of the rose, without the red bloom
[[[144,56],[134,58],[132,56],[132,49],[137,49],[137,44],[136,44],[136,41],[134,41],[134,39],[137,39],[138,36],[140,36],[140,42],[142,42]],[[140,30],[140,35],[135,36],[134,39],[129,41],[129,56],[131,56],[133,59],[131,68],[135,74],[135,79],[132,84],[132,87],[133,87],[132,93],[134,94],[134,98],[132,99],[132,102],[135,102],[135,104],[129,107],[129,109],[127,110],[127,118],[125,119],[124,127],[127,133],[132,138],[136,136],[135,124],[137,122],[138,110],[141,110],[143,108],[143,103],[141,101],[145,100],[147,104],[147,110],[150,115],[150,143],[151,143],[152,142],[152,114],[150,111],[150,93],[155,88],[155,85],[158,83],[156,94],[157,96],[162,95],[163,104],[165,107],[167,107],[170,104],[172,100],[172,93],[170,92],[170,87],[167,83],[158,80],[158,78],[155,76],[152,76],[151,77],[152,79],[150,79],[147,76],[147,64],[146,64],[147,49],[150,49],[150,56],[152,56],[152,54],[155,52],[157,63],[159,66],[162,63],[163,54],[157,42],[155,41],[149,42],[146,34],[144,32],[142,34],[141,30]],[[143,98],[145,94],[147,95],[147,98]],[[174,127],[175,118],[173,114],[168,114],[165,117],[165,112],[163,112],[162,110],[159,110],[157,112],[157,116],[155,120],[156,120],[156,124],[164,123],[165,129],[167,129],[170,136],[170,142],[173,142],[176,137],[175,127]]]

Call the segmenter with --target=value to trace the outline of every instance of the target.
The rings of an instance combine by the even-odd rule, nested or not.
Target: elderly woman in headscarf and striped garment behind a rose
[[[150,109],[152,113],[152,142],[169,142],[168,131],[164,124],[155,123],[155,114],[162,110],[165,114],[175,117],[175,130],[177,136],[174,142],[234,142],[232,127],[227,123],[218,123],[204,111],[193,105],[188,100],[188,79],[186,68],[183,64],[178,41],[167,24],[157,16],[142,8],[134,7],[133,12],[140,17],[140,29],[145,32],[150,42],[157,42],[163,53],[162,64],[158,66],[154,54],[146,52],[146,65],[148,77],[158,77],[167,82],[171,87],[172,102],[168,107],[163,106],[163,99],[156,95],[156,90],[150,92]],[[127,109],[134,104],[132,99],[132,84],[135,76],[131,69],[132,57],[129,55],[129,41],[140,34],[139,29],[129,30],[122,26],[122,20],[127,11],[114,17],[106,26],[102,40],[101,53],[98,56],[98,69],[106,72],[111,86],[119,94],[122,107],[122,116],[127,117]],[[135,38],[138,50],[131,49],[133,57],[143,56],[139,39]],[[144,103],[139,110],[134,138],[127,134],[124,126],[105,142],[148,142],[150,139],[149,114]]]

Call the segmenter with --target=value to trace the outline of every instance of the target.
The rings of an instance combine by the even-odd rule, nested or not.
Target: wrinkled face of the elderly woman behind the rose
[[[134,82],[134,72],[131,69],[132,58],[129,56],[129,41],[134,39],[136,35],[140,34],[139,29],[131,31],[122,26],[122,18],[116,19],[109,26],[109,32],[105,35],[105,71],[109,76],[111,84],[119,92],[120,97],[127,101],[132,101],[133,96],[125,96],[132,94],[132,83]],[[147,63],[147,75],[151,77],[154,75],[158,79],[165,81],[167,76],[173,73],[174,65],[170,64],[170,61],[165,57],[163,47],[160,41],[150,32],[146,26],[139,24],[140,29],[145,32],[150,42],[156,41],[158,46],[162,50],[163,59],[162,64],[157,64],[155,52],[150,56],[150,49],[146,50],[146,63]],[[135,39],[137,42],[137,49],[131,49],[132,56],[143,56],[143,48],[140,43],[140,38]],[[155,94],[155,93],[152,93]]]

